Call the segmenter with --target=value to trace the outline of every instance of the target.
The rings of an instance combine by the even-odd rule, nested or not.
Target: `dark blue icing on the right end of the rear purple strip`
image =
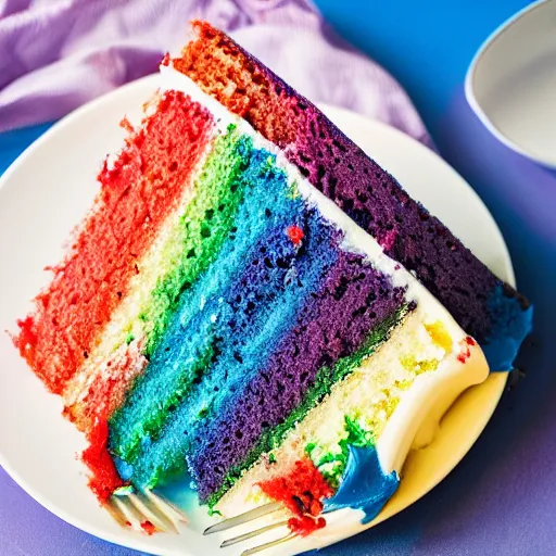
[[[533,326],[533,307],[523,311],[516,298],[504,292],[498,285],[489,299],[489,312],[495,326],[481,348],[491,370],[511,370],[523,339]]]

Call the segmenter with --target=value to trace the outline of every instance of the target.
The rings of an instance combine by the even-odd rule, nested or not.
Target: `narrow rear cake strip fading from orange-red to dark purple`
[[[528,301],[496,278],[317,108],[224,33],[204,22],[174,67],[282,149],[300,172],[413,270],[508,370],[531,328]]]

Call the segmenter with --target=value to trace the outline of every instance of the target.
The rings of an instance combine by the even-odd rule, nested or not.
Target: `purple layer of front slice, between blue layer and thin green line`
[[[228,392],[222,413],[193,429],[188,464],[201,501],[241,467],[261,434],[285,421],[324,367],[353,354],[369,333],[404,305],[404,290],[359,255],[340,252],[325,283],[312,294],[292,329],[243,388]]]

